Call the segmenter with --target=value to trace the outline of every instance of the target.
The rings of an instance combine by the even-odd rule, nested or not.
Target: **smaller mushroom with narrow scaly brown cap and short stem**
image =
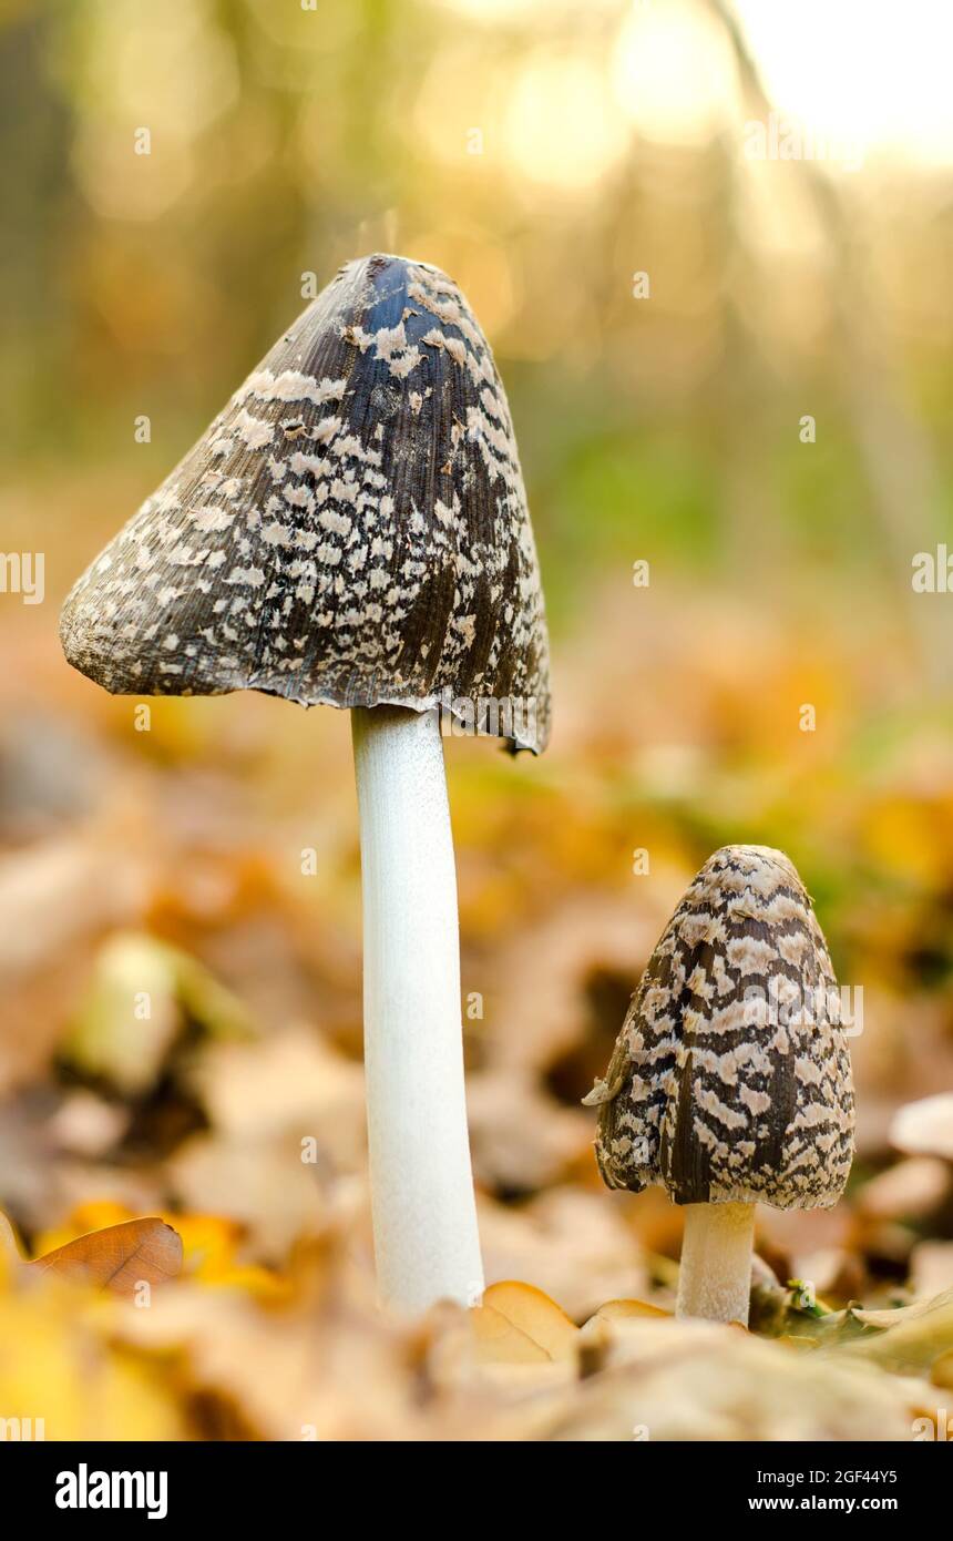
[[[754,1205],[830,1208],[853,1159],[841,999],[781,851],[705,861],[585,1102],[607,1185],[659,1183],[685,1205],[676,1314],[747,1325]]]

